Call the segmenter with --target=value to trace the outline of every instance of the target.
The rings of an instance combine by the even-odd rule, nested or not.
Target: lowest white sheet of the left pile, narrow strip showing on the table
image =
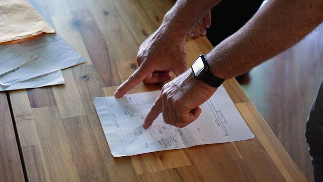
[[[19,89],[30,89],[30,88],[39,88],[52,85],[61,85],[64,84],[64,78],[61,70],[49,73],[46,75],[38,76],[18,84],[13,84],[11,86],[0,86],[0,91],[12,91]]]

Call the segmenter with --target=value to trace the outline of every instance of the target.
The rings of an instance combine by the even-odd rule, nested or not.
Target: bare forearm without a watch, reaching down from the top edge
[[[179,37],[185,37],[189,29],[221,0],[177,0],[165,14],[160,28]]]

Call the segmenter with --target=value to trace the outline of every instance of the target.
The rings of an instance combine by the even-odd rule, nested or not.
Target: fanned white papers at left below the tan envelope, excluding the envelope
[[[0,46],[0,91],[64,84],[60,70],[84,62],[58,34]]]

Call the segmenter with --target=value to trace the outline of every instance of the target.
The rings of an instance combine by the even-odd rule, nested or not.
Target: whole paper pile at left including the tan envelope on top
[[[64,84],[61,70],[85,60],[27,0],[0,1],[0,91]],[[18,43],[17,43],[18,42]]]

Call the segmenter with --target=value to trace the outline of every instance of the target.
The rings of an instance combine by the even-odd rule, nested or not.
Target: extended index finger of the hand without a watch
[[[149,69],[141,65],[124,83],[119,86],[119,88],[114,92],[114,96],[122,97],[127,91],[140,84],[150,73],[151,71]]]

